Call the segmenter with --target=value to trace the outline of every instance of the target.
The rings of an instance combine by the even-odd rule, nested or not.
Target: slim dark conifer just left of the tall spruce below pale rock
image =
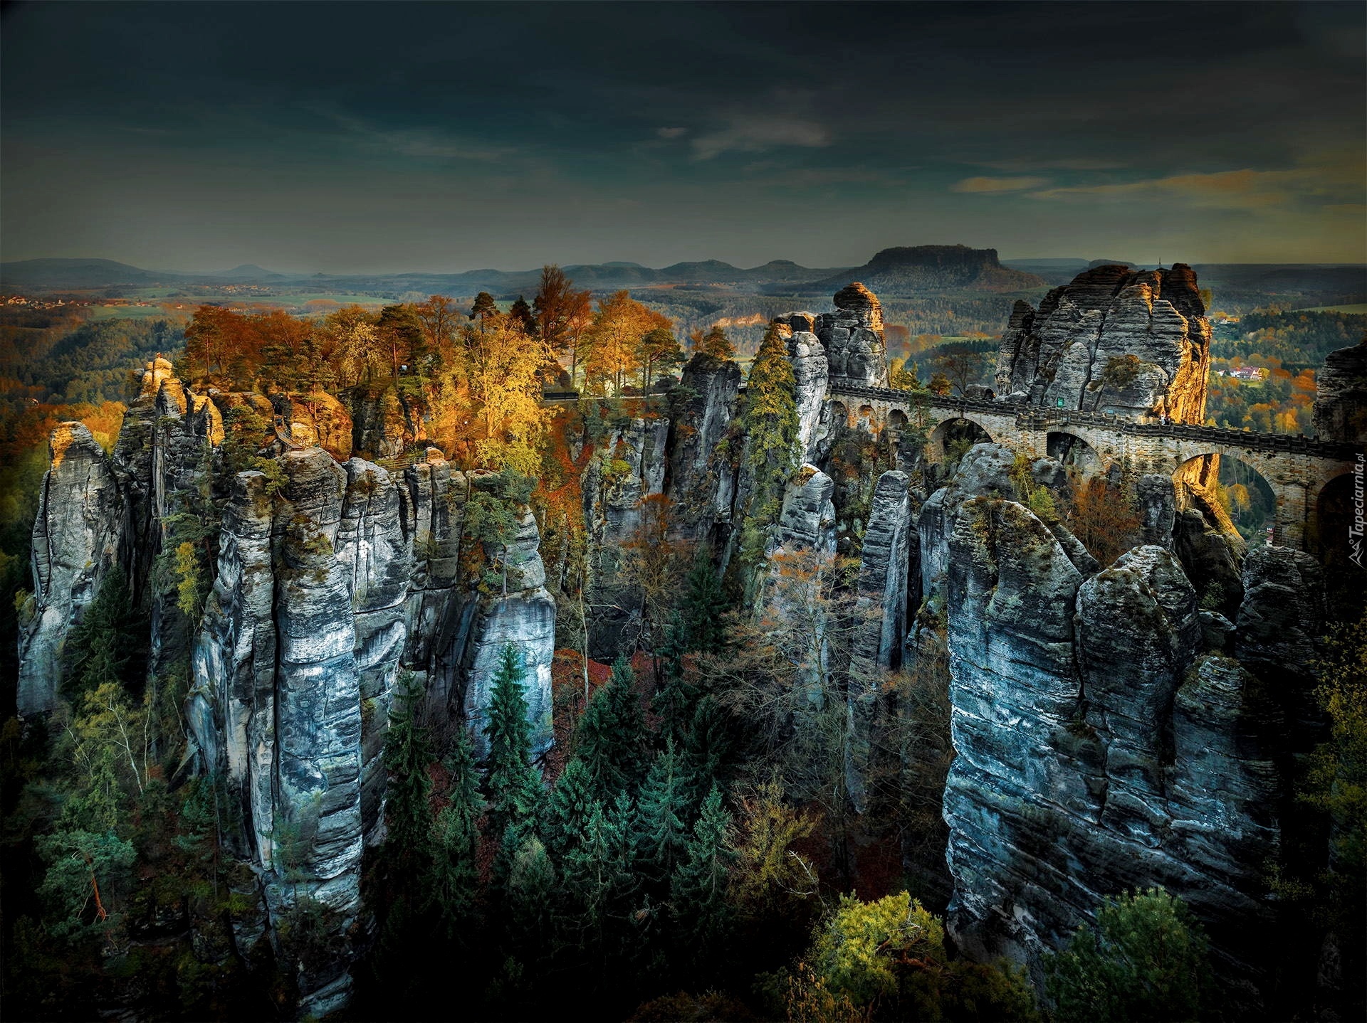
[[[474,750],[469,733],[457,732],[455,744],[446,761],[451,776],[450,802],[436,815],[433,828],[432,900],[447,938],[457,940],[468,930],[478,896],[480,870],[478,818],[483,811]]]

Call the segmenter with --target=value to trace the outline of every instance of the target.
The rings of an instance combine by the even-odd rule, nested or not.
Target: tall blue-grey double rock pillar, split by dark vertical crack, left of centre
[[[280,464],[278,496],[261,473],[238,478],[187,717],[204,766],[243,796],[243,852],[262,871],[272,926],[303,895],[340,934],[361,911],[364,835],[379,824],[377,780],[364,813],[362,774],[376,774],[409,555],[383,470],[342,467],[321,448]],[[303,1005],[340,1005],[346,967],[346,955],[310,964]]]

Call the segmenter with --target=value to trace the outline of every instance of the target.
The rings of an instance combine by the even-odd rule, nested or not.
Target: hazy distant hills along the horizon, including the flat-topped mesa
[[[831,295],[850,281],[861,281],[878,295],[912,296],[927,291],[1029,291],[1069,283],[1089,266],[1124,264],[1125,260],[998,260],[995,249],[962,244],[925,244],[883,249],[863,266],[809,268],[790,260],[771,260],[744,269],[720,260],[677,262],[659,269],[637,262],[576,264],[565,272],[580,287],[595,291],[647,287],[730,287],[770,295]],[[1356,294],[1367,288],[1367,268],[1344,264],[1200,264],[1203,285],[1237,291],[1296,291]],[[448,294],[469,296],[489,291],[499,296],[530,298],[541,270],[480,269],[463,273],[276,273],[256,264],[242,264],[220,273],[146,270],[113,260],[22,260],[0,262],[0,290],[85,291],[216,284],[256,284],[271,288],[316,291],[366,291],[383,295]]]

